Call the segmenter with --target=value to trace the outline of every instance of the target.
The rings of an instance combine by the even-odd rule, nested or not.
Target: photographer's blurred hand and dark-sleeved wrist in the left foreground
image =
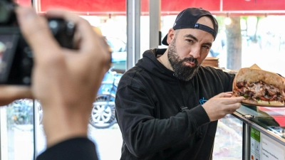
[[[110,68],[110,48],[105,39],[75,14],[48,11],[46,16],[76,24],[78,49],[61,48],[46,18],[22,7],[16,9],[16,14],[34,54],[32,85],[1,85],[0,105],[21,98],[41,101],[47,149],[37,160],[98,159],[87,130],[95,95]]]

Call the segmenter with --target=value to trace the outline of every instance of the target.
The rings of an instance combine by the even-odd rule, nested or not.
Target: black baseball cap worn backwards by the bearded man
[[[197,23],[198,19],[202,16],[208,16],[212,19],[212,22],[214,24],[214,29],[210,28],[209,26],[205,26],[202,24]],[[201,29],[203,31],[207,31],[214,36],[214,39],[217,37],[218,33],[218,23],[216,18],[209,13],[209,11],[206,11],[202,8],[187,8],[180,12],[180,14],[177,15],[175,19],[175,23],[172,27],[174,30],[176,29],[183,29],[183,28],[197,28]],[[162,44],[168,46],[167,44],[167,35],[162,40]]]

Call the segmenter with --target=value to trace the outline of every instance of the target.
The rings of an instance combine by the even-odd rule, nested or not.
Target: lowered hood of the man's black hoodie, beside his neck
[[[165,51],[165,48],[146,50],[136,65],[140,68],[144,68],[152,74],[155,74],[159,78],[177,82],[177,78],[173,75],[174,72],[167,69],[164,65],[162,65],[162,63],[160,63],[160,61],[157,60],[157,57],[159,55],[163,55]]]

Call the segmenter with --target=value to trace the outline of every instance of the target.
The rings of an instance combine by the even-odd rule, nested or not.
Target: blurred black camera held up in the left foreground
[[[17,24],[12,0],[0,0],[0,84],[31,85],[33,52]],[[61,47],[73,49],[76,26],[62,18],[48,18],[48,27]]]

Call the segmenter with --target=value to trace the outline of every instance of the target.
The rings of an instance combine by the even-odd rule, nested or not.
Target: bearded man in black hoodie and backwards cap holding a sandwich
[[[120,79],[115,99],[121,159],[212,159],[217,119],[240,107],[234,75],[202,67],[218,23],[204,9],[178,14],[162,43]]]

